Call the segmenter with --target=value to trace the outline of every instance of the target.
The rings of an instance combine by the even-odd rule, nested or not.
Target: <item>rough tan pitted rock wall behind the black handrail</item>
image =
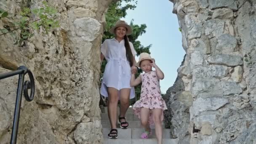
[[[36,93],[22,101],[19,144],[100,144],[100,44],[104,12],[112,0],[48,0],[58,9],[60,28],[43,29],[22,47],[10,35],[0,36],[0,73],[20,65],[32,70]],[[9,18],[0,29],[19,19],[23,5],[42,6],[43,0],[0,0]],[[16,17],[14,17],[16,16]],[[0,143],[11,137],[18,77],[0,80]]]

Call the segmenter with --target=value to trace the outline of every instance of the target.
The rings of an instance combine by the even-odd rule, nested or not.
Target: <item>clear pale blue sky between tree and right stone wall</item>
[[[152,44],[151,57],[164,72],[160,80],[161,92],[166,93],[173,85],[185,51],[182,48],[178,19],[172,13],[173,3],[169,0],[138,0],[135,10],[128,10],[125,20],[130,24],[146,24],[146,33],[138,38],[144,46]],[[136,59],[137,60],[137,59]]]

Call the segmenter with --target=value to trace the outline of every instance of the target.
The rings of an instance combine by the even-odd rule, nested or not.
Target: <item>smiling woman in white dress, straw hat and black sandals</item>
[[[109,30],[115,38],[107,39],[101,45],[101,62],[107,60],[100,93],[108,97],[108,116],[111,131],[110,139],[117,139],[117,103],[120,99],[120,115],[118,121],[121,128],[127,128],[125,113],[129,107],[130,99],[134,98],[135,90],[131,87],[131,72],[137,72],[133,44],[128,41],[127,35],[132,34],[131,27],[125,21],[117,21]]]

